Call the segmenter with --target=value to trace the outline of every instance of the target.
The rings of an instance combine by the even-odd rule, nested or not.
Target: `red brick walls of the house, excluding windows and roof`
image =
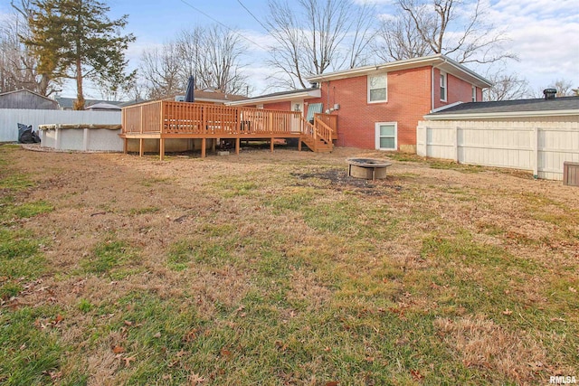
[[[321,98],[306,99],[309,103],[323,103],[323,111],[339,104],[332,114],[338,116],[337,146],[375,148],[375,123],[396,122],[398,146],[416,145],[416,125],[432,109],[432,67],[388,72],[388,100],[384,103],[367,102],[367,77],[320,83]],[[447,74],[447,101],[440,100],[440,71],[434,70],[434,108],[457,102],[470,102],[470,83]],[[479,95],[479,89],[477,94]],[[479,98],[479,97],[478,97]],[[480,99],[477,99],[480,100]],[[264,108],[291,108],[290,102],[271,103]]]

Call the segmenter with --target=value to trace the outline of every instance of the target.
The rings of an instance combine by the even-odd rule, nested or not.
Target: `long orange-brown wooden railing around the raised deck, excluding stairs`
[[[161,100],[123,108],[122,134],[301,135],[300,112]]]

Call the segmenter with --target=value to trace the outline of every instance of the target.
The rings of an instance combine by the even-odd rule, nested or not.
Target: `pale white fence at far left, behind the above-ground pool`
[[[120,111],[70,111],[0,108],[0,142],[18,140],[18,126],[50,124],[120,125]]]

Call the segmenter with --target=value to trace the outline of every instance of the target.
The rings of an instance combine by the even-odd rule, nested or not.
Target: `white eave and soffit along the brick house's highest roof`
[[[309,77],[310,82],[321,82],[328,80],[340,80],[346,78],[353,78],[356,76],[365,76],[372,73],[378,72],[389,72],[389,71],[401,71],[408,69],[415,69],[423,66],[433,66],[435,68],[441,69],[441,71],[448,72],[461,80],[468,81],[481,89],[487,89],[492,86],[489,80],[481,77],[474,71],[471,71],[464,65],[457,61],[453,61],[444,55],[432,55],[423,56],[421,58],[407,59],[403,61],[390,61],[383,64],[376,64],[372,66],[359,67],[356,69],[328,72],[326,74],[321,74],[313,77]]]

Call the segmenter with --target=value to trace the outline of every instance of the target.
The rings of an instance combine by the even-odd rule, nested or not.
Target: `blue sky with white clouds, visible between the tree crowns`
[[[258,18],[267,14],[266,0],[241,1]],[[507,33],[506,49],[519,57],[519,61],[508,63],[508,71],[515,71],[527,79],[536,92],[559,79],[569,80],[574,87],[579,87],[578,0],[482,1],[488,6],[489,18]],[[390,14],[392,0],[373,2],[377,6],[377,17]],[[145,48],[171,40],[188,27],[214,24],[214,20],[204,15],[208,14],[259,44],[255,46],[248,42],[248,54],[243,61],[256,93],[267,86],[266,75],[271,69],[264,62],[267,55],[264,49],[271,39],[237,0],[109,0],[108,3],[112,17],[129,15],[128,31],[138,38],[128,52],[133,65],[138,64],[140,53]],[[9,12],[9,1],[0,0],[0,14]],[[484,75],[481,69],[470,67]],[[72,96],[73,92],[67,94]]]

